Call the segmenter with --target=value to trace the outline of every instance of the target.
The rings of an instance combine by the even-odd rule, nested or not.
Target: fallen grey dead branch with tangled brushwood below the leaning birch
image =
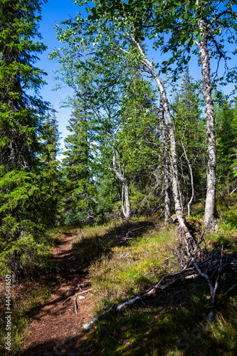
[[[204,245],[203,247],[201,247],[202,244]],[[214,302],[216,300],[216,291],[218,289],[218,282],[221,277],[221,273],[226,268],[231,268],[232,271],[236,273],[236,259],[231,256],[225,256],[223,253],[223,249],[228,246],[224,247],[222,245],[221,249],[218,251],[216,251],[215,248],[212,251],[209,251],[205,245],[204,234],[202,234],[199,239],[194,239],[191,234],[186,234],[182,229],[179,246],[177,247],[177,256],[179,256],[180,265],[182,267],[181,271],[167,273],[162,276],[157,283],[154,283],[153,286],[145,290],[143,293],[140,293],[139,295],[136,295],[132,299],[120,303],[119,305],[112,304],[109,309],[103,311],[100,315],[93,318],[93,320],[90,320],[89,323],[83,325],[83,329],[90,330],[90,328],[92,328],[93,325],[100,320],[100,318],[104,317],[111,311],[123,310],[128,305],[137,303],[137,301],[142,301],[142,298],[148,298],[151,295],[156,295],[159,291],[173,288],[174,285],[179,282],[198,277],[204,278],[209,286],[211,299],[208,318],[209,321],[214,320]],[[237,284],[229,288],[226,293],[223,294],[223,297],[236,286]],[[172,293],[176,292],[172,291]]]

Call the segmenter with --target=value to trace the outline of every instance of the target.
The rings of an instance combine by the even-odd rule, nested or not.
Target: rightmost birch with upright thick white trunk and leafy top
[[[208,147],[204,218],[208,229],[216,226],[218,217],[216,211],[216,132],[212,89],[218,75],[222,82],[224,79],[230,81],[236,78],[236,70],[228,69],[228,61],[231,59],[228,55],[228,43],[231,44],[232,54],[236,54],[236,49],[232,49],[233,43],[236,43],[235,5],[236,1],[196,0],[184,1],[182,4],[167,1],[164,5],[164,26],[160,26],[160,31],[166,29],[171,34],[168,44],[163,47],[164,52],[172,51],[172,58],[164,62],[165,66],[177,60],[177,68],[181,69],[182,65],[190,59],[191,48],[194,48],[193,53],[199,55]],[[211,58],[216,60],[216,66],[212,70]],[[220,75],[221,61],[223,61],[224,70]]]

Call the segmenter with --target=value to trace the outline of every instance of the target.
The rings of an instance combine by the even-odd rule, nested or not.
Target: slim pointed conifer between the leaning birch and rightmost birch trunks
[[[181,199],[190,214],[191,202],[203,197],[205,185],[205,122],[201,115],[201,93],[198,83],[192,83],[186,66],[179,92],[174,97],[174,125],[178,142]]]

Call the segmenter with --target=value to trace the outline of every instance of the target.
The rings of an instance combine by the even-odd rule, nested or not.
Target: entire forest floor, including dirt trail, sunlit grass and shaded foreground
[[[237,256],[237,204],[219,210],[220,228],[206,234],[207,245],[225,244],[225,253]],[[201,224],[198,217],[193,221]],[[141,216],[83,229],[60,227],[52,232],[53,241],[50,272],[33,270],[12,288],[14,352],[10,355],[237,355],[237,287],[223,298],[230,286],[237,286],[235,271],[221,275],[214,323],[207,323],[209,287],[197,278],[177,281],[168,290],[122,312],[108,313],[91,330],[83,330],[85,323],[112,303],[130,300],[165,273],[177,271],[175,224],[166,226],[157,217]],[[78,314],[77,294],[85,297],[77,298]],[[0,303],[4,315],[2,310]],[[3,322],[3,335],[4,329]],[[9,355],[1,345],[0,354]]]

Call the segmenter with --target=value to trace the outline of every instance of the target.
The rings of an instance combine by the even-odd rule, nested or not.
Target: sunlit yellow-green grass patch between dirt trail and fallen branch
[[[164,266],[157,266],[170,256],[174,244],[174,229],[154,229],[135,238],[128,246],[115,246],[91,264],[90,276],[97,308],[131,298],[151,286]],[[165,266],[167,268],[167,265]]]

